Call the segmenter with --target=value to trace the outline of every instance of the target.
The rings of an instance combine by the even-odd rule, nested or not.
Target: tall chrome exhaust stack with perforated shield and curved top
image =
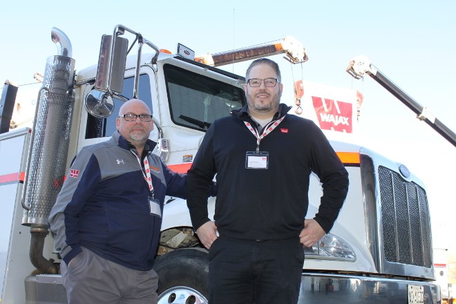
[[[43,257],[44,238],[48,234],[48,217],[61,190],[66,173],[73,116],[75,59],[68,37],[53,28],[51,39],[59,55],[46,61],[43,86],[33,122],[29,164],[24,182],[22,225],[30,226],[32,240],[30,261],[41,272],[57,274],[53,259]]]

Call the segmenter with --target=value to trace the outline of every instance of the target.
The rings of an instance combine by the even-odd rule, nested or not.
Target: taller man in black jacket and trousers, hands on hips
[[[192,224],[209,249],[209,303],[297,303],[302,245],[311,247],[334,225],[348,172],[321,130],[280,104],[276,62],[253,61],[246,79],[247,106],[211,125],[187,175]],[[323,196],[315,218],[305,220],[312,172]]]

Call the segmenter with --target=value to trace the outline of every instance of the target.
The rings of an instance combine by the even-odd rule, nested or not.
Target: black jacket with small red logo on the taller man
[[[209,221],[207,189],[218,187],[214,220],[220,235],[248,240],[294,238],[303,229],[310,174],[319,176],[323,196],[316,222],[329,232],[348,191],[348,172],[323,132],[280,104],[273,120],[285,116],[260,142],[269,153],[268,169],[246,169],[247,151],[256,137],[247,106],[216,120],[207,130],[187,174],[187,205],[194,229]]]

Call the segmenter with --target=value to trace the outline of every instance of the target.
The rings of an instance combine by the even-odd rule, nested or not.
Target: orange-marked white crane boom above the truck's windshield
[[[249,46],[247,48],[239,48],[238,50],[207,54],[195,57],[195,60],[209,66],[225,66],[226,64],[235,64],[241,61],[278,54],[285,54],[287,56],[285,59],[292,64],[298,64],[308,60],[304,46],[291,36],[258,46]]]

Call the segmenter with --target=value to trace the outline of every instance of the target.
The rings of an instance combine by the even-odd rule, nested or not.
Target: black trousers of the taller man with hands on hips
[[[298,303],[304,251],[299,238],[220,236],[209,250],[209,304]]]

